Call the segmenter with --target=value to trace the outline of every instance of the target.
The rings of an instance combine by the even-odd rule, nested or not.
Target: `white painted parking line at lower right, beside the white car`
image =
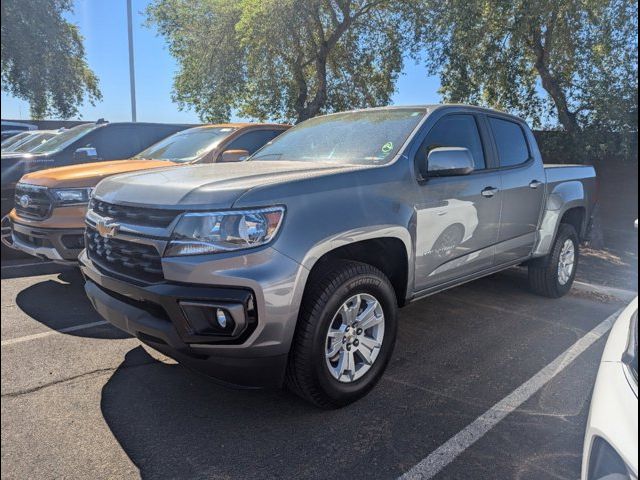
[[[440,445],[428,457],[416,464],[411,470],[400,477],[400,480],[426,480],[433,478],[443,468],[453,462],[461,453],[480,440],[487,432],[495,427],[498,422],[516,410],[520,405],[531,398],[547,382],[562,372],[581,353],[593,345],[605,335],[621,310],[611,315],[593,330],[580,338],[571,347],[560,354],[549,365],[544,367],[525,383],[516,388],[505,398],[474,420],[464,430]]]

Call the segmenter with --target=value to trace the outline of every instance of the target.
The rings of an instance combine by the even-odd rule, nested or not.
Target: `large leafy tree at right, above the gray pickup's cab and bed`
[[[515,111],[537,125],[555,114],[572,134],[637,131],[637,0],[426,5],[427,66],[446,100]]]

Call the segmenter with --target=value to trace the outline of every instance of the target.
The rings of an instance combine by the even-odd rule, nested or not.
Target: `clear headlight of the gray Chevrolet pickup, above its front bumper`
[[[229,252],[259,247],[275,237],[284,207],[184,214],[171,235],[165,257]]]

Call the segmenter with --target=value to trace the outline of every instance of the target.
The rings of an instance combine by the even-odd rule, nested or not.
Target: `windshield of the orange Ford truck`
[[[133,158],[192,162],[209,153],[236,130],[233,127],[190,128],[160,140]]]

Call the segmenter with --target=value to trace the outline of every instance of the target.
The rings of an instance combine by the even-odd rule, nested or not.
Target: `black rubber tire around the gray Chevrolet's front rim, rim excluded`
[[[338,261],[310,279],[287,366],[287,387],[321,408],[339,408],[366,395],[382,376],[396,339],[397,299],[391,283],[377,268]],[[384,338],[377,358],[362,377],[343,383],[325,362],[325,340],[334,315],[351,296],[362,293],[378,300],[384,313]]]

